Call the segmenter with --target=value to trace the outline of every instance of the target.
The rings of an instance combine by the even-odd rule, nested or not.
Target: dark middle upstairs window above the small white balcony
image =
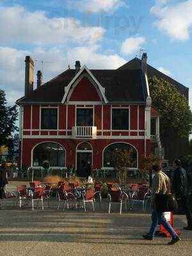
[[[77,126],[93,126],[93,109],[77,108]]]

